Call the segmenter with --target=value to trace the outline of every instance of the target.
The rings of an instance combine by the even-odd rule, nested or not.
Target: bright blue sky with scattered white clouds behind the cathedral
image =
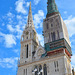
[[[16,75],[20,57],[20,37],[27,22],[29,2],[32,3],[34,25],[43,44],[42,22],[47,13],[46,0],[0,0],[0,75]],[[75,0],[56,0],[65,21],[75,66]]]

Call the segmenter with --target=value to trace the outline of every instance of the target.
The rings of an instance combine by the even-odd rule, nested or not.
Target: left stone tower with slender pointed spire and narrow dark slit
[[[31,3],[30,3],[27,25],[21,36],[20,63],[32,61],[32,57],[34,56],[37,46],[38,46],[38,37],[33,24]]]

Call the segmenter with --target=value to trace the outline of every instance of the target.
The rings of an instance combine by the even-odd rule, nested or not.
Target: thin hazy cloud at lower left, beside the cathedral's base
[[[17,67],[17,60],[18,60],[18,57],[0,58],[0,66],[3,67],[3,68],[16,69],[16,67]]]

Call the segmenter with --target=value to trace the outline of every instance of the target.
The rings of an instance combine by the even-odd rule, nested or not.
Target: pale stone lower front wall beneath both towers
[[[55,67],[56,63],[56,67]],[[57,66],[58,63],[58,66]],[[35,75],[32,71],[37,66],[39,71],[39,66],[44,68],[44,64],[47,66],[47,75],[71,75],[71,64],[70,59],[68,59],[67,55],[64,53],[60,53],[54,56],[48,56],[44,58],[34,59],[31,62],[26,62],[18,65],[18,75]],[[24,70],[26,71],[24,73]],[[43,70],[44,71],[44,70]],[[42,75],[45,75],[42,72]]]

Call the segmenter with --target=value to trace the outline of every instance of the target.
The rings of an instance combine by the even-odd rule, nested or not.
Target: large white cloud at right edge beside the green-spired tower
[[[67,28],[68,28],[68,32],[69,32],[69,36],[71,37],[72,35],[75,34],[75,17],[69,16],[68,19],[64,20]]]

